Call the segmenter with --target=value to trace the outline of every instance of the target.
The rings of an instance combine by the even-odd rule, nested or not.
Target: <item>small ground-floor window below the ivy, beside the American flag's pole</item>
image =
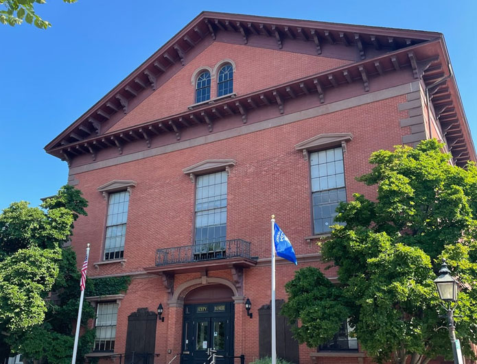
[[[96,313],[96,337],[95,351],[113,352],[116,339],[116,321],[117,321],[116,302],[97,304]]]

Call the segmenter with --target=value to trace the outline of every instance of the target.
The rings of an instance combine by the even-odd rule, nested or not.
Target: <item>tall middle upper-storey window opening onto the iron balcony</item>
[[[196,179],[196,252],[223,250],[227,219],[226,171]]]

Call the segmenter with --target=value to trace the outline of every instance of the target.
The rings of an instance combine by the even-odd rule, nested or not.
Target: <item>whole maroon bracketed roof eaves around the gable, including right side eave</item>
[[[277,49],[282,49],[284,43],[294,40],[306,41],[314,44],[317,55],[321,54],[324,43],[352,46],[356,47],[361,61],[341,67],[342,70],[329,70],[327,73],[314,75],[314,77],[277,85],[270,90],[261,90],[259,93],[246,95],[248,96],[246,98],[240,98],[241,95],[238,95],[235,99],[220,100],[222,101],[219,102],[220,109],[207,105],[199,107],[198,110],[185,110],[181,114],[171,115],[167,120],[161,120],[159,123],[157,120],[138,121],[140,125],[127,130],[119,130],[115,133],[104,132],[105,125],[107,129],[111,122],[119,121],[121,115],[129,112],[135,104],[152,94],[161,77],[169,78],[171,73],[178,72],[181,65],[189,61],[189,51],[205,38],[215,40],[220,32],[241,34],[244,44],[257,36],[275,38]],[[419,47],[419,45],[429,47]],[[436,45],[439,48],[438,51],[435,51]],[[381,56],[367,58],[367,49],[371,47],[380,50]],[[435,54],[439,56],[432,58]],[[368,90],[367,77],[374,73],[382,75],[390,67],[399,69],[399,67],[410,66],[415,78],[423,77],[426,84],[430,85],[450,73],[447,67],[449,62],[443,36],[437,32],[202,12],[64,132],[54,138],[45,149],[48,153],[64,160],[84,153],[91,154],[95,160],[95,150],[117,147],[121,154],[121,145],[135,139],[144,139],[150,147],[150,137],[161,132],[174,132],[179,139],[181,128],[187,128],[189,124],[207,123],[211,131],[213,119],[222,118],[221,112],[240,113],[242,120],[246,123],[247,108],[257,108],[262,104],[276,102],[283,112],[283,99],[294,98],[297,94],[316,92],[323,103],[325,88],[336,87],[341,83],[351,83],[357,79],[362,80],[364,89]],[[433,102],[434,99],[443,101],[442,104],[438,102],[434,106],[439,107],[439,110],[445,106],[445,109],[442,109],[443,119],[451,123],[451,132],[458,134],[455,142],[461,143],[461,139],[465,139],[464,144],[469,146],[467,152],[459,152],[459,158],[474,159],[472,138],[455,81],[440,84],[432,91],[434,92]],[[176,117],[175,121],[174,117]],[[456,123],[459,124],[458,128],[453,126]]]

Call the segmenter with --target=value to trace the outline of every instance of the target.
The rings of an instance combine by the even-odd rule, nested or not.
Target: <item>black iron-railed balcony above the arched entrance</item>
[[[229,267],[253,267],[257,260],[251,258],[251,243],[242,239],[202,243],[156,250],[155,267],[146,268],[150,273],[188,273],[219,270]]]

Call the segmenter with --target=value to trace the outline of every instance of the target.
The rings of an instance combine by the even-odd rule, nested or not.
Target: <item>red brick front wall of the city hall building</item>
[[[200,26],[200,32],[208,34],[203,23],[204,14],[198,16],[202,22],[189,24],[181,31],[181,37],[194,35],[194,26]],[[214,19],[213,16],[218,15],[210,15],[210,18]],[[233,18],[235,15],[221,16]],[[242,24],[246,24],[244,19],[241,20]],[[251,19],[253,21],[253,17]],[[277,19],[275,21],[279,23]],[[305,24],[308,23],[301,26],[305,27]],[[271,29],[270,25],[270,32]],[[297,29],[294,29],[297,32]],[[361,29],[361,32],[364,30]],[[281,32],[285,32],[285,28],[282,27]],[[399,40],[400,31],[393,32]],[[312,228],[310,161],[304,158],[301,150],[296,150],[295,145],[319,134],[352,134],[352,140],[345,142],[343,154],[347,200],[351,201],[353,193],[362,193],[371,199],[376,197],[375,186],[365,186],[356,181],[356,177],[371,171],[372,166],[368,160],[373,151],[393,150],[395,145],[403,143],[415,145],[417,141],[430,137],[446,142],[441,125],[434,117],[432,105],[431,113],[428,114],[424,96],[426,82],[414,77],[412,65],[407,61],[407,53],[403,54],[408,63],[404,62],[404,58],[399,58],[399,62],[402,62],[399,71],[395,71],[389,58],[386,58],[379,61],[385,71],[382,76],[377,73],[377,68],[370,69],[369,65],[367,75],[363,76],[358,72],[358,66],[353,66],[362,61],[357,48],[346,47],[340,42],[322,42],[323,53],[317,55],[311,33],[308,33],[307,42],[303,39],[283,38],[283,34],[281,35],[283,49],[277,47],[277,39],[272,33],[270,36],[248,34],[247,45],[244,45],[240,32],[218,31],[216,28],[216,40],[210,35],[198,40],[196,34],[195,48],[187,51],[184,66],[181,66],[178,60],[175,64],[167,65],[167,71],[157,76],[156,90],[150,90],[149,84],[146,84],[147,89],[142,91],[136,88],[139,95],[136,99],[129,99],[130,108],[126,114],[119,110],[116,114],[111,114],[109,121],[103,121],[100,137],[105,136],[106,143],[91,144],[96,148],[93,160],[86,149],[90,143],[89,138],[96,138],[94,135],[86,137],[84,145],[74,149],[74,154],[69,153],[71,148],[69,151],[61,149],[63,154],[58,154],[58,148],[67,148],[68,145],[58,147],[59,144],[52,142],[53,144],[47,146],[46,149],[51,154],[60,158],[69,156],[69,182],[80,189],[89,201],[89,207],[86,209],[88,216],[80,216],[75,222],[72,236],[73,249],[78,254],[78,267],[82,263],[86,244],[91,243],[89,277],[132,277],[126,295],[119,300],[116,353],[124,353],[126,350],[128,316],[144,307],[156,312],[157,306],[162,303],[165,321],[158,321],[156,324],[154,350],[159,356],[154,358],[154,363],[168,363],[183,351],[182,302],[187,300],[187,293],[197,287],[226,284],[233,287],[236,292],[234,294],[238,295],[233,298],[235,313],[232,317],[235,355],[244,354],[246,363],[259,358],[258,309],[270,303],[271,294],[270,215],[275,214],[277,223],[292,241],[299,256],[298,267],[281,258],[277,260],[277,299],[287,299],[284,286],[293,278],[294,271],[301,267],[317,267],[332,281],[337,277],[336,267],[325,269],[328,263],[321,261],[320,250],[316,245],[319,236],[314,236]],[[410,37],[409,34],[406,36]],[[426,37],[432,38],[425,32],[416,32],[414,36],[415,43],[426,40]],[[178,40],[174,38],[171,43],[167,43],[167,47],[174,45],[176,41]],[[426,43],[419,47],[424,49],[423,54],[427,58],[430,54],[442,52],[437,45]],[[413,51],[421,57],[419,47],[413,48]],[[371,59],[390,50],[378,51],[369,45],[366,51],[367,57]],[[167,62],[161,58],[162,53],[157,54],[157,60],[164,66]],[[233,92],[236,95],[225,101],[213,101],[213,105],[224,110],[224,104],[220,104],[221,102],[241,100],[247,112],[246,123],[242,122],[240,110],[233,106],[235,114],[227,116],[222,112],[222,119],[213,119],[212,132],[207,130],[207,125],[202,120],[198,125],[181,128],[180,140],[176,139],[170,127],[170,133],[150,133],[150,145],[146,145],[142,136],[139,140],[132,137],[138,135],[138,130],[134,129],[137,125],[165,117],[172,120],[175,114],[187,112],[188,107],[194,104],[195,86],[191,84],[194,72],[205,67],[213,69],[226,59],[235,64]],[[152,58],[147,62],[153,62]],[[371,66],[376,67],[374,64]],[[343,66],[350,68],[340,69]],[[306,77],[329,70],[338,70],[331,74],[331,78],[335,77],[338,83],[332,86],[329,83],[331,81],[327,81],[329,75],[325,75],[324,79],[320,78],[325,89],[324,99],[320,99],[316,83],[306,80]],[[146,82],[142,71],[135,71],[130,80],[142,77],[141,82]],[[342,75],[346,73],[343,71],[348,71],[352,78],[345,79]],[[365,82],[366,77],[369,84]],[[291,92],[279,88],[281,84],[296,80],[305,80],[308,82],[307,86],[303,88],[299,83],[293,84]],[[215,97],[217,92],[216,82],[216,78],[212,78],[212,97]],[[121,85],[113,91],[124,94]],[[267,91],[270,106],[254,94],[275,86],[284,102],[283,110],[279,109],[279,102],[270,97],[270,90]],[[246,100],[240,99],[243,95],[257,97],[255,100],[259,101],[252,106]],[[455,99],[456,95],[454,93],[451,96],[458,104],[460,101]],[[95,108],[103,107],[98,105]],[[196,108],[206,110],[202,109],[206,106]],[[95,108],[93,110],[96,110]],[[196,108],[192,107],[191,111],[197,110]],[[206,112],[211,114],[208,109]],[[82,122],[82,119],[78,119],[73,126]],[[159,128],[157,124],[150,125]],[[465,121],[460,121],[459,125],[465,130]],[[60,136],[64,144],[67,141],[74,148],[74,143],[77,142],[69,139],[68,133],[71,130]],[[114,134],[118,130],[132,130],[132,134],[128,134],[132,140],[121,139],[121,154],[113,141],[114,138],[119,140],[117,134]],[[466,143],[469,150],[468,159],[475,160],[472,140],[466,139]],[[101,147],[97,147],[98,145]],[[341,143],[337,142],[321,149],[340,145]],[[448,150],[447,145],[445,150]],[[461,163],[458,158],[454,162]],[[226,239],[249,241],[251,256],[257,258],[253,261],[253,265],[256,265],[245,268],[243,276],[240,276],[227,265],[218,270],[211,269],[213,260],[210,267],[198,267],[196,263],[188,263],[186,270],[167,272],[168,278],[173,277],[173,284],[168,292],[165,287],[167,277],[163,279],[161,272],[154,270],[156,250],[194,244],[196,184],[183,169],[205,160],[235,161],[235,164],[227,167],[229,176]],[[222,170],[225,170],[225,167]],[[134,181],[135,186],[130,187],[124,260],[105,262],[103,256],[108,200],[107,193],[103,195],[97,189],[115,180]],[[196,283],[192,285],[192,282]],[[253,319],[246,315],[243,304],[246,298],[252,302]],[[316,348],[299,345],[299,362],[372,363],[367,356],[340,357],[336,352],[329,353],[329,356],[316,357],[312,355],[316,351]],[[101,363],[117,361],[118,359],[110,359],[108,356],[100,359]],[[173,363],[180,361],[181,359],[176,358]]]

